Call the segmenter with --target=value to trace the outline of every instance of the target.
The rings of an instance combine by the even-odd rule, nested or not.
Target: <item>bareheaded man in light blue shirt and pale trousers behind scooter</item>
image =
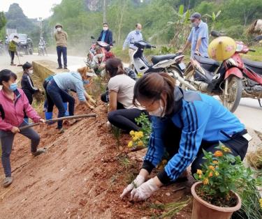
[[[129,60],[130,64],[133,64],[133,53],[136,51],[138,47],[133,45],[132,43],[135,41],[143,40],[143,35],[141,33],[142,25],[136,24],[136,29],[131,31],[129,35],[127,35],[126,40],[124,40],[123,50],[126,49],[126,46],[129,45]]]

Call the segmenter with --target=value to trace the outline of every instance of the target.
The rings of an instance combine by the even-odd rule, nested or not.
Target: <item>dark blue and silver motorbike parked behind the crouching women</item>
[[[170,76],[177,80],[178,84],[184,84],[191,89],[195,89],[188,82],[183,80],[183,73],[186,66],[182,62],[184,55],[181,53],[176,54],[166,54],[152,56],[152,63],[150,63],[145,55],[143,54],[145,49],[156,48],[154,45],[150,45],[144,40],[136,41],[131,43],[137,47],[136,51],[133,53],[133,70],[138,75],[144,75],[147,73],[159,73],[165,71]],[[177,84],[177,85],[178,85]]]

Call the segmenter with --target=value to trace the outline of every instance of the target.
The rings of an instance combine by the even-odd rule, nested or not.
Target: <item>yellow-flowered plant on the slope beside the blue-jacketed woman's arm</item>
[[[140,131],[133,131],[129,133],[132,137],[132,140],[129,142],[128,147],[131,149],[141,149],[145,148],[148,144],[151,134],[151,123],[147,114],[141,114],[137,119],[136,123],[140,126]]]

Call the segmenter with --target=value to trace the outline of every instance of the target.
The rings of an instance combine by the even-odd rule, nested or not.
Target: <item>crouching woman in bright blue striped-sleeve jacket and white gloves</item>
[[[150,73],[136,82],[134,103],[136,100],[152,116],[152,134],[140,173],[120,197],[131,192],[131,199],[145,200],[175,181],[189,165],[194,174],[204,163],[203,149],[214,153],[219,142],[234,156],[245,157],[249,139],[245,126],[211,96],[178,88],[166,73]],[[166,167],[145,182],[165,151],[170,156]]]

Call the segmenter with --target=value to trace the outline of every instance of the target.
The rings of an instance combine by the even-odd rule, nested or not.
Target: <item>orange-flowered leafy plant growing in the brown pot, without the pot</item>
[[[231,149],[219,144],[214,153],[203,150],[205,163],[202,169],[197,169],[194,177],[202,181],[196,190],[197,194],[210,204],[216,206],[235,206],[236,199],[231,191],[237,190],[237,185],[249,177],[247,169],[240,156],[233,156]]]

